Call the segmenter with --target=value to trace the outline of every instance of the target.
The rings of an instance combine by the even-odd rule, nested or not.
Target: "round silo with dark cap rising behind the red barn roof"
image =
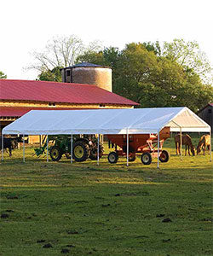
[[[62,81],[75,84],[95,84],[98,87],[112,91],[112,68],[82,62],[61,69]]]

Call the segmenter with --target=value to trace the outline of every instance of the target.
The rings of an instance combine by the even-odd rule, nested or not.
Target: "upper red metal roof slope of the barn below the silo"
[[[0,100],[139,105],[92,84],[0,79]]]

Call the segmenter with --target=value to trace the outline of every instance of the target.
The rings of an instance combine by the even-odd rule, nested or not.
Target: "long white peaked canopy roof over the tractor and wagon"
[[[188,108],[97,110],[32,110],[3,129],[3,134],[144,134],[170,131],[210,131]]]

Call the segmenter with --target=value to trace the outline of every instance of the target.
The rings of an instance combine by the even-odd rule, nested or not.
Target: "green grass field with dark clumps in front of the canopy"
[[[5,154],[0,255],[213,255],[212,163],[176,156],[143,166],[107,157],[46,163],[26,148]]]

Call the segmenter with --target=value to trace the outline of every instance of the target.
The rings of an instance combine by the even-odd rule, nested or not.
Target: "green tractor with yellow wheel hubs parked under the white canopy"
[[[49,155],[53,161],[59,161],[63,154],[67,159],[71,159],[71,136],[69,135],[49,135]],[[41,148],[35,148],[35,154],[40,156],[47,148],[47,137],[44,137]],[[72,137],[72,158],[77,162],[83,162],[90,158],[97,159],[98,139],[95,135],[75,135]],[[104,148],[99,144],[99,158],[103,155]]]

